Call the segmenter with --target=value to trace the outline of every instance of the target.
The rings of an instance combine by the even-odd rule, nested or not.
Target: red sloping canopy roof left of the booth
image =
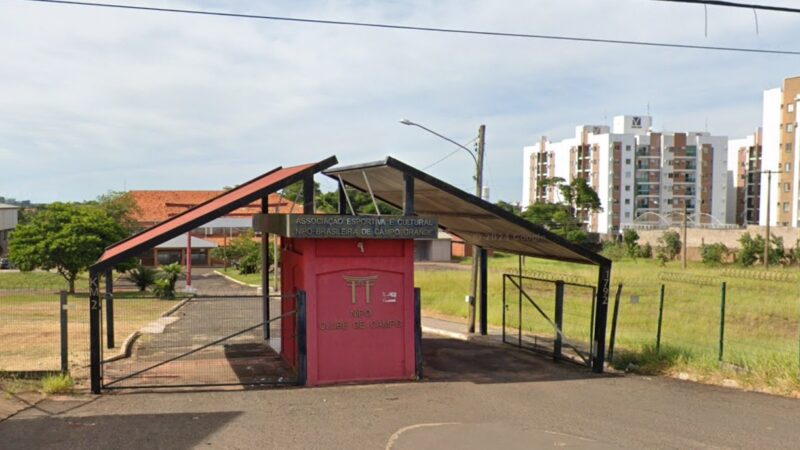
[[[155,247],[204,223],[222,217],[237,208],[263,198],[271,192],[282,189],[305,177],[313,176],[315,173],[333,166],[336,162],[336,157],[331,156],[317,163],[273,169],[229,191],[225,191],[207,202],[117,242],[103,252],[103,255],[92,265],[91,269],[99,271],[111,267],[120,261],[138,255],[145,249]]]

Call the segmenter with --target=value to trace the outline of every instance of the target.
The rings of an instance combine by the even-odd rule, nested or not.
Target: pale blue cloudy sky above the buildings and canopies
[[[119,0],[122,3],[123,0]],[[330,20],[800,50],[800,15],[649,0],[146,1]],[[793,1],[764,1],[796,6]],[[0,195],[215,189],[336,154],[425,167],[487,127],[492,199],[518,201],[522,147],[643,114],[741,137],[800,56],[104,10],[0,0]],[[471,190],[456,153],[430,172]]]

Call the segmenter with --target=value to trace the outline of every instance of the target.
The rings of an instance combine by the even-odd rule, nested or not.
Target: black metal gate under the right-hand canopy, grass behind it
[[[503,274],[503,342],[592,366],[597,288]]]

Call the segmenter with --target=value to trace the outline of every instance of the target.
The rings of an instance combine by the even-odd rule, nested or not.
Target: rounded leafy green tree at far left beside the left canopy
[[[14,230],[9,259],[24,271],[55,269],[74,294],[78,274],[125,236],[125,230],[97,205],[53,203]]]

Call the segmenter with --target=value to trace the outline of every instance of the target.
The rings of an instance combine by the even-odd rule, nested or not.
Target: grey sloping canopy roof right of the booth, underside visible
[[[403,203],[403,175],[408,174],[415,179],[414,212],[437,217],[439,226],[469,244],[536,258],[611,265],[595,252],[392,157],[324,173],[364,192],[371,187],[375,197],[397,207]]]

